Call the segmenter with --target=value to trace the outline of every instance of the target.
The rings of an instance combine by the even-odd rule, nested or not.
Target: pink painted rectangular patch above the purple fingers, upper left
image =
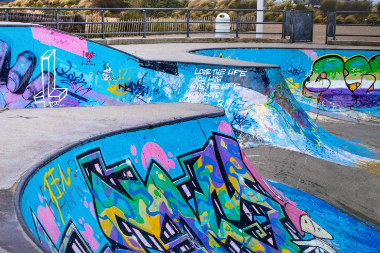
[[[33,38],[42,44],[58,47],[67,52],[77,54],[83,57],[87,52],[87,41],[72,35],[66,35],[61,32],[50,31],[43,27],[32,27]]]

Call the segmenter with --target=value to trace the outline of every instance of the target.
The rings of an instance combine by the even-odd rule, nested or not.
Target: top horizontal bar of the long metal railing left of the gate
[[[184,9],[184,8],[41,8],[41,7],[0,7],[0,10],[58,10],[58,11],[67,11],[67,10],[112,10],[112,11],[129,11],[129,10],[137,10],[137,11],[239,11],[239,12],[285,12],[284,10],[257,10],[257,9]],[[375,12],[369,12],[375,13]]]

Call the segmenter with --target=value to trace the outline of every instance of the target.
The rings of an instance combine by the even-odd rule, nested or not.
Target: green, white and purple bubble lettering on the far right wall
[[[380,55],[348,59],[336,54],[316,59],[302,94],[324,106],[371,108],[380,104]]]

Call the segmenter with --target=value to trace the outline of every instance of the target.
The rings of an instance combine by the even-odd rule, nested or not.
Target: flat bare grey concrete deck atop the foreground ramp
[[[2,140],[7,143],[7,150],[0,154],[0,171],[4,172],[0,176],[0,190],[10,189],[36,163],[41,164],[63,152],[61,149],[89,139],[212,115],[224,115],[224,109],[189,103],[152,103],[2,111],[0,124],[7,133]],[[11,174],[5,173],[9,170]]]

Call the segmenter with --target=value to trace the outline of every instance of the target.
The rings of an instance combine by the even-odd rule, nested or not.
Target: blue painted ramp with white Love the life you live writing
[[[335,138],[315,124],[278,66],[191,54],[175,54],[175,61],[170,52],[134,56],[28,24],[4,22],[0,30],[0,107],[211,104],[226,110],[243,147],[271,145],[352,166],[379,162],[378,150]]]

